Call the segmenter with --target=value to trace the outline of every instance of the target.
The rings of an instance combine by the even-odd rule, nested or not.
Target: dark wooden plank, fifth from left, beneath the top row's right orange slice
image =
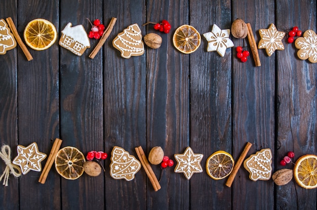
[[[155,31],[152,24],[146,27],[146,33],[160,34],[163,39],[159,49],[146,48],[147,153],[160,146],[174,161],[174,154],[182,153],[189,141],[189,56],[177,51],[171,40],[175,29],[188,23],[188,6],[188,1],[146,3],[146,22],[166,19],[172,26],[168,34]],[[154,192],[147,182],[148,209],[189,208],[189,182],[183,174],[174,173],[175,165],[164,169],[161,190]],[[159,179],[160,165],[153,169]]]

